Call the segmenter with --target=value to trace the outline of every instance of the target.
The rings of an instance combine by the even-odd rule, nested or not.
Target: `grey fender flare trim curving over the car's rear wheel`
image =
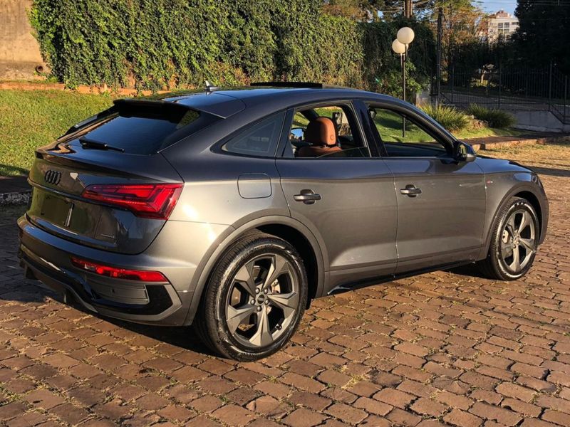
[[[304,226],[303,223],[297,221],[294,218],[291,218],[290,216],[263,216],[252,221],[248,221],[238,228],[228,227],[227,233],[224,233],[222,236],[220,236],[209,247],[208,253],[204,255],[204,258],[202,258],[206,261],[198,265],[194,278],[192,278],[192,283],[194,284],[194,293],[192,295],[192,301],[190,302],[190,307],[188,309],[186,320],[184,322],[185,325],[190,325],[192,323],[192,320],[194,320],[200,300],[202,300],[202,292],[207,285],[207,281],[210,274],[212,273],[212,269],[217,264],[219,258],[227,251],[229,246],[231,246],[234,241],[237,241],[237,239],[247,231],[250,231],[259,226],[269,226],[274,224],[295,228],[296,231],[299,231],[299,233],[301,233],[309,242],[309,245],[311,245],[311,248],[315,254],[317,263],[318,279],[316,284],[316,296],[318,297],[319,295],[322,295],[325,278],[324,258],[321,251],[321,246],[319,245],[316,236],[314,236],[314,233],[312,233],[309,228]]]

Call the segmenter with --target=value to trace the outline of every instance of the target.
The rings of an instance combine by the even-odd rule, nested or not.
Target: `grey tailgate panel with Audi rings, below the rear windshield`
[[[118,253],[145,251],[165,223],[81,196],[93,184],[180,183],[162,154],[138,155],[57,144],[30,171],[31,223],[76,243]]]

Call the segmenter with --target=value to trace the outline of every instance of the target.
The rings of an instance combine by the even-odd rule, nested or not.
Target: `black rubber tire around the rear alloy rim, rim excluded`
[[[208,329],[214,332],[215,336],[212,339],[222,354],[238,360],[261,359],[281,349],[299,327],[308,293],[306,272],[299,253],[293,246],[280,238],[270,236],[252,238],[251,241],[242,241],[241,244],[238,242],[234,248],[237,250],[232,251],[230,248],[228,253],[222,257],[209,283],[208,291],[214,295],[212,295],[213,298],[207,299],[209,300],[209,307],[206,307],[206,310],[211,310],[210,312],[214,312],[215,316],[214,318],[207,317],[210,322],[214,322],[214,325],[209,325]],[[242,265],[249,260],[269,253],[284,256],[294,268],[299,283],[299,307],[289,327],[278,339],[269,346],[256,349],[240,343],[229,332],[226,322],[226,304],[228,293],[232,289],[232,280],[239,268],[242,268]]]

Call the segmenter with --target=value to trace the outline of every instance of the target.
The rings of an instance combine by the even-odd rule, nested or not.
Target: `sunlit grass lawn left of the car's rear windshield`
[[[37,147],[108,108],[108,95],[63,90],[0,90],[0,175],[27,174]]]

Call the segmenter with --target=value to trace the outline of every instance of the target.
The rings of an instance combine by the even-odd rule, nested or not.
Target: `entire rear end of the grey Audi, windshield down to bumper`
[[[175,102],[121,100],[38,149],[18,221],[26,276],[103,315],[182,325],[196,268],[187,237],[210,242],[212,228],[168,221],[185,183],[160,151],[216,120]]]

